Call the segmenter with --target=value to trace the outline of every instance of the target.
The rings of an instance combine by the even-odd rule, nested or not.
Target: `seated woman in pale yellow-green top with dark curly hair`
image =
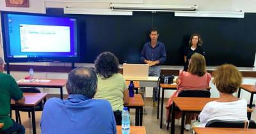
[[[98,88],[94,98],[108,100],[115,114],[116,124],[122,122],[124,104],[129,103],[129,91],[122,74],[118,73],[119,61],[111,52],[103,52],[95,60]]]

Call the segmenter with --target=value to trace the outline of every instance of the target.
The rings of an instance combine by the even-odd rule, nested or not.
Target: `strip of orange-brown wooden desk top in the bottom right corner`
[[[256,129],[244,129],[244,128],[194,128],[196,134],[256,134]]]

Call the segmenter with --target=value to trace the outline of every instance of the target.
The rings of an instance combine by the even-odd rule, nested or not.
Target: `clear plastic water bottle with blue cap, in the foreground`
[[[130,133],[130,114],[128,108],[124,107],[122,111],[122,134]]]

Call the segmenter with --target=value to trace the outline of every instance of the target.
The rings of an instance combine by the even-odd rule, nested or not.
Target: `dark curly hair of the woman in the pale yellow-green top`
[[[119,61],[111,52],[102,52],[94,63],[96,73],[104,78],[109,78],[119,71]]]

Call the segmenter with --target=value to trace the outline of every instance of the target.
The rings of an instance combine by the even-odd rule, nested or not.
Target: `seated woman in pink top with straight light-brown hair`
[[[168,119],[169,107],[172,107],[173,98],[177,97],[180,91],[186,90],[204,90],[209,86],[211,80],[210,73],[206,72],[206,62],[204,56],[195,53],[191,56],[188,65],[188,71],[180,71],[179,77],[176,79],[177,91],[169,98],[166,104],[166,119]],[[197,114],[186,114],[185,129],[191,128],[191,120],[196,118]],[[181,117],[180,112],[175,114],[175,119]]]

